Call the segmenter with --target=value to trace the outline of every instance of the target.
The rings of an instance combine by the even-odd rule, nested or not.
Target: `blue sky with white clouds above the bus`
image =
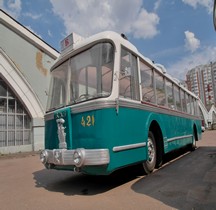
[[[213,0],[0,0],[0,8],[58,51],[71,32],[112,30],[179,80],[216,61]]]

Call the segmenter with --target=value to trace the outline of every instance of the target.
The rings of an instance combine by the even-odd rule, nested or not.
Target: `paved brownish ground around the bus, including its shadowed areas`
[[[0,156],[0,209],[216,209],[216,131],[149,176],[128,167],[111,176],[44,169],[35,153]]]

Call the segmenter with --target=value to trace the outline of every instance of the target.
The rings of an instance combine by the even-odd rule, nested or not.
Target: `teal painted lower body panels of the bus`
[[[140,107],[143,106],[142,104]],[[146,143],[148,131],[152,124],[157,124],[162,133],[162,148],[164,153],[176,150],[185,145],[192,144],[194,126],[200,128],[199,119],[187,119],[186,117],[168,115],[135,109],[119,107],[104,108],[83,113],[73,114],[71,108],[65,108],[53,114],[53,119],[46,121],[45,148],[58,149],[58,136],[56,116],[64,116],[66,142],[68,150],[76,148],[85,149],[109,149],[110,163],[105,166],[86,166],[82,168],[83,173],[107,175],[114,170],[136,163],[142,163],[147,159],[147,147],[113,151],[113,148],[124,145]],[[94,122],[92,123],[92,118]],[[85,125],[82,121],[85,121]],[[201,131],[197,130],[201,135]],[[187,137],[190,136],[190,137]],[[176,139],[175,137],[182,137]],[[174,138],[169,142],[169,139]],[[73,170],[74,166],[56,166],[56,169]]]

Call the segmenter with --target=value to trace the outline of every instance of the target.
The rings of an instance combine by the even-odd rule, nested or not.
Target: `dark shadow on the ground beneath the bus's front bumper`
[[[136,179],[140,173],[139,166],[131,166],[109,176],[91,176],[47,169],[36,171],[33,175],[36,187],[43,187],[48,191],[62,192],[65,195],[95,195]]]

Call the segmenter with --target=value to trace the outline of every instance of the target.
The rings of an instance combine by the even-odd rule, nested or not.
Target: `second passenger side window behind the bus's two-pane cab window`
[[[165,96],[165,82],[162,75],[155,72],[155,83],[156,83],[156,97],[157,104],[161,106],[166,105],[166,96]]]

